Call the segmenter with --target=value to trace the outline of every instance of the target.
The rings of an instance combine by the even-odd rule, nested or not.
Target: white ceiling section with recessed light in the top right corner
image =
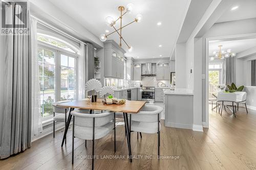
[[[238,9],[231,8],[238,6]],[[234,1],[233,5],[228,9],[217,22],[226,22],[233,20],[256,18],[256,1],[255,0],[240,0]]]

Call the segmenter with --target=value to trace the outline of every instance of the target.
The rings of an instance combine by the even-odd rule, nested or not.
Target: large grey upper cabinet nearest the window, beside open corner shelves
[[[115,41],[104,42],[104,77],[124,78],[124,53]]]

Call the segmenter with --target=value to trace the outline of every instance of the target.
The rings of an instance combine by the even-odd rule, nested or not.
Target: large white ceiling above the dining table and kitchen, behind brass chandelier
[[[134,4],[133,12],[123,16],[123,25],[134,20],[138,13],[142,14],[143,20],[124,28],[122,37],[129,45],[133,46],[133,51],[126,53],[125,56],[135,59],[138,59],[137,56],[141,59],[158,58],[160,55],[162,55],[161,57],[170,57],[172,55],[186,8],[190,2],[189,0],[49,1],[96,36],[105,33],[105,30],[114,31],[113,28],[106,26],[105,18],[107,16],[117,18],[119,15],[118,6]],[[159,21],[162,22],[161,26],[157,26]],[[119,22],[117,26],[119,26]],[[109,36],[109,39],[114,39],[119,44],[117,33]],[[160,44],[162,47],[158,47]],[[122,42],[122,47],[127,51],[124,42]]]

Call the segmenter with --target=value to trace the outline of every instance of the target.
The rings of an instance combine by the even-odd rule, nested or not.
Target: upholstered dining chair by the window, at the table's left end
[[[53,137],[55,137],[55,122],[65,122],[65,128],[67,124],[67,112],[68,108],[59,107],[58,104],[66,103],[70,101],[60,101],[52,104],[53,106]],[[66,143],[66,140],[65,140]]]

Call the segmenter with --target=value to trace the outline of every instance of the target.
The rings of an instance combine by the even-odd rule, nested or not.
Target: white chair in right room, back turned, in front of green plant
[[[236,117],[236,110],[237,110],[237,94],[235,93],[226,93],[226,92],[220,92],[218,93],[218,96],[217,96],[217,103],[218,104],[221,104],[221,115],[222,115],[222,110],[223,110],[223,107],[225,109],[226,106],[232,106],[233,108],[233,115],[234,117]],[[219,112],[220,112],[220,109],[219,109]]]

